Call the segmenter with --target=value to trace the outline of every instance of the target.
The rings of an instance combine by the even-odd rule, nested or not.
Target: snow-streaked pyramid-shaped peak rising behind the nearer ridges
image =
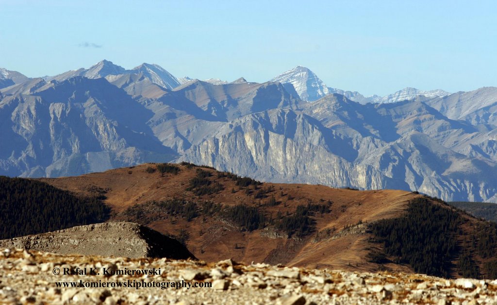
[[[297,66],[278,75],[271,82],[292,84],[299,97],[308,102],[316,101],[330,94],[325,83],[314,72],[302,66]]]

